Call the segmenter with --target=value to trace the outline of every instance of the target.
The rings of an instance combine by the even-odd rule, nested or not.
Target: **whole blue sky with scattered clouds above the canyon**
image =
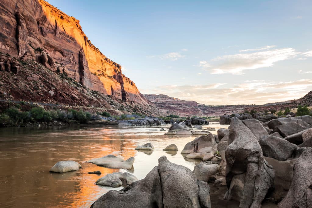
[[[312,90],[312,1],[48,0],[141,93],[209,105]]]

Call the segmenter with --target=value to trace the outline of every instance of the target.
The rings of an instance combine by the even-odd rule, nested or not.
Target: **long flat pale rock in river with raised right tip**
[[[134,162],[134,157],[130,157],[128,160],[123,160],[119,157],[116,157],[115,155],[106,155],[104,157],[91,159],[87,162],[110,168],[131,169]]]

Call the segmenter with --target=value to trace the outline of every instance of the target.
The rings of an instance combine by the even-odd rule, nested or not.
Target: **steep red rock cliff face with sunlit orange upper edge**
[[[149,103],[121,66],[91,44],[79,20],[48,2],[1,0],[0,28],[0,52],[59,68],[82,85],[123,101]]]

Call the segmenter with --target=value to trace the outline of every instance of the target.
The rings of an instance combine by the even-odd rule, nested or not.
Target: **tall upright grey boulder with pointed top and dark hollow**
[[[236,117],[231,120],[228,143],[225,150],[228,191],[224,199],[239,200],[241,208],[261,207],[274,185],[273,167],[264,159],[258,139]]]

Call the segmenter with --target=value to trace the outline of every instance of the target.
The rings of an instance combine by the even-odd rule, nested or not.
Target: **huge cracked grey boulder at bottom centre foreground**
[[[107,192],[92,207],[211,207],[209,185],[163,156],[144,179],[121,191]]]

